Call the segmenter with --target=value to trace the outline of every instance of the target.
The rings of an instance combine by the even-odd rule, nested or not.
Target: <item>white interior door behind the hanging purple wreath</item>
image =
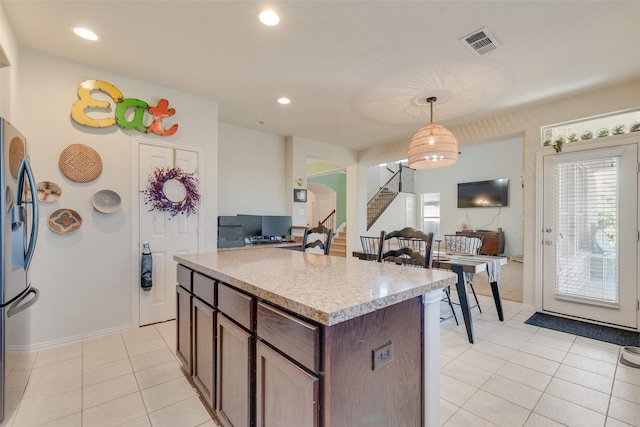
[[[174,166],[184,172],[198,170],[198,153],[148,143],[139,144],[138,187],[146,188],[148,178],[156,168]],[[197,215],[149,211],[145,197],[139,197],[139,248],[149,242],[153,254],[153,286],[140,289],[140,326],[163,322],[176,317],[176,254],[194,253],[198,250]]]

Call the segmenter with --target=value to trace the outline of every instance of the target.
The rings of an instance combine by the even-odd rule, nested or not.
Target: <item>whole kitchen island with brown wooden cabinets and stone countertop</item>
[[[174,258],[176,352],[222,425],[440,425],[453,273],[283,248]]]

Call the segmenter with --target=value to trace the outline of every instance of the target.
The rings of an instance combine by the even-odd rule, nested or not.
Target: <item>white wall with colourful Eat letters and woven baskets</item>
[[[114,60],[118,60],[114,58]],[[100,69],[63,61],[30,50],[20,51],[17,111],[13,123],[26,136],[37,181],[53,181],[62,188],[54,203],[41,204],[40,237],[32,263],[31,280],[40,289],[32,309],[32,346],[42,347],[131,326],[132,295],[139,286],[137,237],[133,234],[132,206],[139,194],[132,190],[132,136],[192,146],[202,150],[200,192],[202,250],[215,250],[217,234],[217,104],[202,98],[130,79]],[[178,123],[170,137],[151,137],[117,126],[103,129],[78,125],[70,118],[77,86],[84,80],[107,81],[126,98],[155,105],[169,100]],[[58,168],[60,152],[69,144],[86,144],[102,157],[103,171],[95,181],[79,184]],[[115,214],[96,212],[91,196],[111,189],[122,197]],[[134,202],[135,201],[135,202]],[[82,228],[58,235],[47,227],[59,208],[76,210]],[[136,325],[134,325],[136,326]]]

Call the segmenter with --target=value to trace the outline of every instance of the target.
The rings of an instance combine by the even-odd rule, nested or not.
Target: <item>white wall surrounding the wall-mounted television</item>
[[[445,168],[417,170],[416,193],[440,193],[440,234],[455,234],[462,223],[470,229],[497,230],[505,236],[505,254],[521,255],[522,139],[509,139],[472,147],[461,147],[458,161]],[[458,208],[460,182],[509,178],[509,206],[503,208]],[[418,197],[418,201],[420,198]],[[419,202],[420,203],[420,202]],[[420,224],[420,228],[422,224]]]

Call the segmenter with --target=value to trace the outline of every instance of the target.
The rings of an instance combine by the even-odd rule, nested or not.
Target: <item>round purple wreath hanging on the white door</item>
[[[179,181],[187,190],[187,195],[180,202],[172,202],[164,194],[164,184],[175,179]],[[172,217],[178,214],[198,213],[198,178],[194,173],[183,172],[180,168],[156,168],[155,172],[147,180],[147,188],[141,191],[145,195],[145,205],[151,205],[149,212],[158,210],[169,212]]]

